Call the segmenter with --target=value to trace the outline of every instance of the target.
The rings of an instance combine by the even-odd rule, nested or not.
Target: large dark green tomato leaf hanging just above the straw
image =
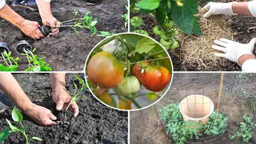
[[[192,34],[194,14],[199,13],[198,0],[184,0],[184,6],[177,6],[172,2],[172,19],[177,26],[186,34]],[[168,15],[169,17],[169,15]]]

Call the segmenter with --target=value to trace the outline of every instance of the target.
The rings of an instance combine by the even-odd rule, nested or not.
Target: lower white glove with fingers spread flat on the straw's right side
[[[234,42],[232,40],[227,40],[227,39],[215,40],[214,43],[219,46],[212,45],[213,49],[224,52],[224,53],[215,53],[214,54],[215,56],[225,58],[238,63],[238,59],[242,55],[253,54],[254,45],[256,44],[256,38],[253,38],[247,44]]]

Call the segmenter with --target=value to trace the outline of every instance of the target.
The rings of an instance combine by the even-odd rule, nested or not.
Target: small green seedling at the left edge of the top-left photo
[[[6,50],[1,53],[3,64],[0,64],[0,71],[9,72],[9,71],[17,71],[18,69],[18,61],[20,61],[20,58],[14,59],[11,57],[11,52],[7,53]]]

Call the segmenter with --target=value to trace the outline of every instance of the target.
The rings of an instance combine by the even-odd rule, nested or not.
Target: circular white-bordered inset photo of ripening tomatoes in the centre
[[[120,33],[98,43],[85,63],[91,93],[118,110],[139,110],[170,87],[173,65],[165,48],[142,34]]]

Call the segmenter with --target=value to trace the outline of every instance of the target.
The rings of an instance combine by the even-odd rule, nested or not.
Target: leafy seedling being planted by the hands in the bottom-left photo
[[[81,92],[83,92],[87,88],[87,85],[85,84],[85,82],[84,82],[84,80],[82,78],[80,78],[77,75],[74,75],[74,76],[79,81],[79,84],[82,85],[82,87],[81,87],[81,89],[79,91],[77,91],[77,89],[78,89],[77,84],[74,83],[75,92],[73,93],[72,98],[71,98],[71,100],[69,102],[69,105],[68,105],[68,107],[66,107],[66,110],[69,109],[69,106],[71,105],[72,102],[78,101],[80,99],[80,96],[83,97],[84,99],[86,99],[86,96],[80,95],[80,94],[81,94]]]

